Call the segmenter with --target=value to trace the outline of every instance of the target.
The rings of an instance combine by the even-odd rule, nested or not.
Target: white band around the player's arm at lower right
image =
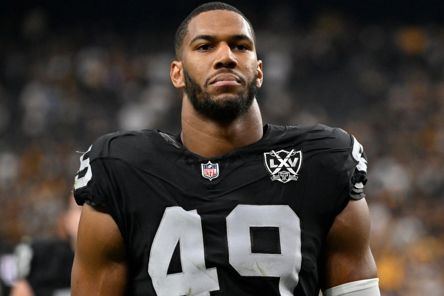
[[[323,296],[381,296],[378,278],[339,285],[325,290]]]

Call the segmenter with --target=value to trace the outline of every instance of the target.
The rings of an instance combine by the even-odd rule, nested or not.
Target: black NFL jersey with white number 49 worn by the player
[[[367,181],[362,146],[323,125],[266,125],[212,158],[160,131],[118,132],[80,162],[74,197],[116,222],[129,295],[317,296],[326,235]]]

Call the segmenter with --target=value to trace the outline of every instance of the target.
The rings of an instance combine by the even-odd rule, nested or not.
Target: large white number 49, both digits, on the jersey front
[[[281,296],[292,296],[301,266],[299,218],[289,206],[239,205],[226,218],[229,262],[241,276],[279,277]],[[280,254],[253,253],[250,227],[279,230]],[[179,243],[182,272],[168,274]],[[216,268],[205,267],[202,223],[197,211],[164,212],[149,255],[148,274],[158,296],[209,296],[219,290]]]

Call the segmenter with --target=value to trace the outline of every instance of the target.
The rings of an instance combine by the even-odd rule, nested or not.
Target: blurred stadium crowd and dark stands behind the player
[[[179,132],[173,36],[201,2],[0,4],[0,252],[56,233],[75,151],[116,130]],[[443,295],[444,2],[227,2],[256,30],[264,122],[363,144],[381,295]]]

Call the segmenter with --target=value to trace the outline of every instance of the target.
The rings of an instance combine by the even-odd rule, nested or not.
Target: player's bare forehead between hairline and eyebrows
[[[198,35],[246,35],[252,37],[250,26],[239,14],[228,10],[212,10],[196,15],[188,24],[185,40]]]

